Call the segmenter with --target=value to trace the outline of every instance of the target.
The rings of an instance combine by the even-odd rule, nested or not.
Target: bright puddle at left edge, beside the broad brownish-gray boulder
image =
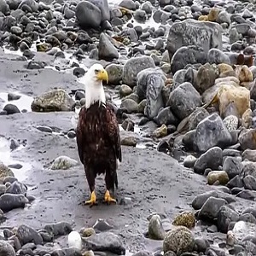
[[[31,103],[33,101],[32,96],[26,96],[24,94],[20,94],[19,92],[13,92],[15,95],[19,95],[20,99],[14,101],[8,101],[8,93],[0,92],[0,102],[3,101],[3,106],[0,105],[0,108],[4,108],[4,106],[8,103],[14,104],[17,108],[22,110],[26,110],[27,112],[31,112]]]

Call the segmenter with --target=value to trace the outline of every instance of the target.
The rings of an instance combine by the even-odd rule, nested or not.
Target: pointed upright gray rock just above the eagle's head
[[[98,44],[98,56],[100,60],[112,61],[113,59],[119,58],[118,50],[108,39],[105,33],[101,33]]]

